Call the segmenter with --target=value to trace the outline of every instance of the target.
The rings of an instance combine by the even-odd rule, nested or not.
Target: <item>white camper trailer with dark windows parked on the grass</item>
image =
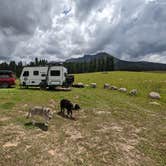
[[[63,66],[24,67],[20,76],[20,85],[23,87],[39,86],[47,87],[70,86],[74,77],[67,74]]]

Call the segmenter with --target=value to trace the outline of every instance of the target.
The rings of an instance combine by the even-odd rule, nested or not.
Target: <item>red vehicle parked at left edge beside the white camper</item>
[[[0,87],[8,88],[16,84],[16,79],[12,71],[0,70]]]

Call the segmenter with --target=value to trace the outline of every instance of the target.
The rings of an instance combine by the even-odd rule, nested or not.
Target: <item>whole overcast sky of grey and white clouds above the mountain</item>
[[[0,0],[0,61],[99,51],[166,63],[166,1]]]

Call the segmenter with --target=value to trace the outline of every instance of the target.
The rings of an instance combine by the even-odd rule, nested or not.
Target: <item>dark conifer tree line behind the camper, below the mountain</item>
[[[50,63],[45,59],[39,60],[38,58],[35,58],[34,61],[31,61],[28,64],[23,64],[22,61],[18,63],[15,61],[10,61],[9,63],[2,62],[0,63],[0,70],[12,70],[17,77],[20,77],[24,66],[48,66],[51,64],[53,65],[54,63]],[[114,60],[112,57],[100,57],[94,58],[88,62],[64,62],[63,66],[65,66],[71,74],[112,71],[114,70]]]

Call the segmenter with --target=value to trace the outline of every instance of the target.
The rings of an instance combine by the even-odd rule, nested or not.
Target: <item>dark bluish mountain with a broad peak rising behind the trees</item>
[[[79,58],[71,58],[66,60],[66,63],[89,63],[95,60],[105,59],[111,57],[114,59],[114,70],[124,71],[152,71],[152,70],[164,70],[166,71],[166,64],[152,63],[146,61],[131,62],[120,60],[108,53],[100,52],[95,55],[84,55]]]

